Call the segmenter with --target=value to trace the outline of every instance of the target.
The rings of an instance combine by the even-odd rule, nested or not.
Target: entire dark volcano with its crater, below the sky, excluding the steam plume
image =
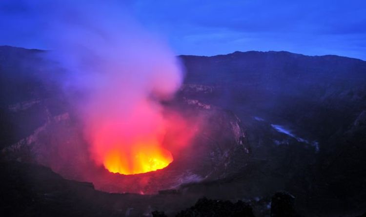
[[[241,204],[238,199],[256,217],[283,209],[281,204],[305,216],[366,211],[363,60],[288,52],[181,56],[184,84],[173,98],[155,101],[164,120],[157,126],[165,127],[154,129],[164,130],[133,141],[143,150],[158,148],[169,160],[132,174],[119,169],[133,168],[120,160],[121,134],[105,131],[114,138],[108,150],[117,153],[111,161],[118,165],[108,170],[110,152],[93,153],[93,140],[84,138],[83,123],[61,88],[40,79],[47,67],[24,64],[41,66],[45,52],[0,49],[1,192],[8,199],[2,204],[14,213],[143,216],[159,210],[175,216],[204,204],[235,207],[223,200]],[[104,126],[95,129],[103,132]],[[155,155],[136,159],[149,162],[155,158],[150,153]],[[192,206],[201,197],[209,199]],[[15,210],[17,203],[27,205]]]

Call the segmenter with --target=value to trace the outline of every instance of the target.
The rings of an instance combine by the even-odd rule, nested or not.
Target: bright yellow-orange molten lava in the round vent
[[[109,172],[131,175],[163,169],[172,161],[171,153],[155,143],[134,145],[130,150],[117,146],[105,156],[103,164]]]

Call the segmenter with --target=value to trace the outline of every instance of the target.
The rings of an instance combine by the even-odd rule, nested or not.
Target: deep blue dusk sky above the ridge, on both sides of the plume
[[[47,49],[39,35],[44,31],[44,20],[38,13],[52,13],[49,2],[1,0],[0,45]],[[366,0],[117,2],[121,13],[127,11],[147,30],[165,39],[177,55],[284,50],[366,60]],[[34,5],[42,5],[42,11],[32,10]]]

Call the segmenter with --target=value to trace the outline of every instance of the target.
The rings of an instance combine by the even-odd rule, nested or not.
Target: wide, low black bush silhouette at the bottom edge
[[[254,217],[252,208],[239,200],[236,203],[201,198],[189,209],[176,217]]]

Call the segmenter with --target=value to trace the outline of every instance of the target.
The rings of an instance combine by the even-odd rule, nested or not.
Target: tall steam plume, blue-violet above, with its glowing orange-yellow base
[[[173,161],[163,147],[170,122],[160,101],[182,82],[174,54],[116,5],[61,3],[46,38],[67,71],[60,80],[74,94],[90,157],[113,173],[166,167]]]

